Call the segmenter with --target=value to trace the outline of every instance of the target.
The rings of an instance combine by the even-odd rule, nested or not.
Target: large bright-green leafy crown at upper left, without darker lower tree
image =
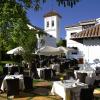
[[[6,50],[19,44],[21,35],[28,29],[25,28],[27,22],[26,12],[18,3],[8,1],[0,4],[0,43]]]

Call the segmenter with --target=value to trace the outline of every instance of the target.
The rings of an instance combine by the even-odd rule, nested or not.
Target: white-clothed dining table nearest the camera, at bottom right
[[[71,92],[74,92],[77,96],[76,100],[79,100],[80,90],[81,88],[88,88],[87,84],[78,82],[75,84],[76,80],[64,80],[53,82],[53,86],[51,89],[52,95],[59,95],[63,98],[63,100],[71,100]]]

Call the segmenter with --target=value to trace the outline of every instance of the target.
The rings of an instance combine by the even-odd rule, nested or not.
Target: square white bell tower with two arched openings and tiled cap
[[[60,39],[60,18],[61,16],[55,11],[44,15],[44,30],[56,40]]]

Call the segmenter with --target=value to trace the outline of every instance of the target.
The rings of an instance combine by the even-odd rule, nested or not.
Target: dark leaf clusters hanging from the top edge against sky
[[[42,3],[46,3],[49,0],[18,0],[24,7],[32,7],[34,10],[39,10],[41,8]],[[64,7],[73,7],[78,3],[80,0],[56,0],[58,6]]]

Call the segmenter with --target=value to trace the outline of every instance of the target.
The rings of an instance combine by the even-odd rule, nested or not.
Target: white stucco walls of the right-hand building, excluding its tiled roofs
[[[96,19],[97,22],[93,22],[94,24],[100,24],[100,18]],[[82,23],[82,25],[86,23]],[[94,63],[95,59],[99,59],[100,61],[100,38],[87,38],[82,39],[83,43],[78,43],[76,41],[70,40],[71,33],[80,32],[82,31],[82,26],[78,27],[66,27],[66,37],[67,40],[67,47],[78,47],[79,52],[83,54],[84,62]]]

